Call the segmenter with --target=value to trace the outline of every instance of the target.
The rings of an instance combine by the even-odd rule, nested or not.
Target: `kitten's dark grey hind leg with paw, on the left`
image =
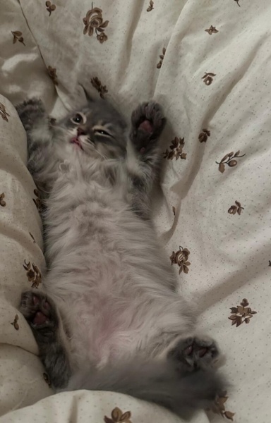
[[[54,388],[64,388],[70,379],[71,367],[56,306],[44,293],[26,291],[21,298],[20,312],[32,329],[50,382]]]

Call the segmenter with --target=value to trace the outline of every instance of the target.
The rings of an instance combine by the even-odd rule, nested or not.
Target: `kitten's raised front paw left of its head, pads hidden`
[[[33,98],[25,100],[25,102],[16,106],[16,110],[25,130],[31,129],[37,121],[46,118],[44,104],[40,99]]]

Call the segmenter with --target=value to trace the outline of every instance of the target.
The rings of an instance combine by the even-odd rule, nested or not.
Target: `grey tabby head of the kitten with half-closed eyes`
[[[126,123],[116,109],[104,100],[88,100],[58,124],[71,149],[90,157],[112,159],[126,152]]]

